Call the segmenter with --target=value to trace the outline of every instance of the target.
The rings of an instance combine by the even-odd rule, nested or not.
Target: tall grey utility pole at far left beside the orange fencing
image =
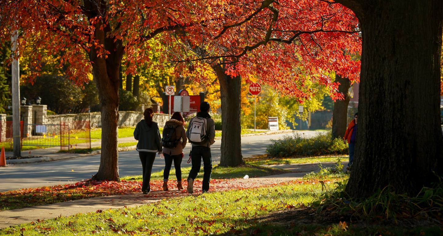
[[[20,157],[20,82],[19,82],[19,52],[17,50],[18,31],[11,36],[12,43],[12,142],[14,157]]]

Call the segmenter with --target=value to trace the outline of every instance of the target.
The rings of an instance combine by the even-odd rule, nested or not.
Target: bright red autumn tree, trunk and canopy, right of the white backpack
[[[338,83],[319,72],[328,68],[346,77],[358,77],[359,62],[342,54],[345,49],[352,53],[360,50],[358,20],[342,5],[307,0],[227,1],[214,2],[208,11],[215,12],[208,22],[210,27],[183,31],[179,44],[182,47],[176,47],[174,55],[175,61],[185,62],[183,70],[195,72],[202,65],[210,65],[218,76],[222,166],[243,162],[241,78],[260,78],[284,95],[308,98],[313,91],[307,89],[302,77],[292,73],[292,68],[303,65],[308,74],[316,75],[310,78],[312,81],[326,85],[332,97],[337,98],[341,96],[337,93]]]

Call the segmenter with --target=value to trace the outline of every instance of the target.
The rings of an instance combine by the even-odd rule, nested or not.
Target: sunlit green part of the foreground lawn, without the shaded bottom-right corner
[[[10,235],[206,235],[249,228],[247,220],[308,205],[322,193],[319,184],[290,184],[252,190],[205,193],[101,213],[58,217],[1,229]],[[91,222],[93,222],[91,224]]]

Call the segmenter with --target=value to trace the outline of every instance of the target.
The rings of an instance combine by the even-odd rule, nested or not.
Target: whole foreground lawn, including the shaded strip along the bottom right
[[[331,187],[333,184],[328,184]],[[246,190],[167,198],[134,208],[0,229],[1,235],[441,235],[441,224],[394,224],[322,218],[306,206],[323,193],[319,183],[290,183]],[[343,223],[344,222],[344,223]]]

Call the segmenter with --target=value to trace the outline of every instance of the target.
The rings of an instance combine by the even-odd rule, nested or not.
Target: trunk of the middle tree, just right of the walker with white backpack
[[[245,163],[241,155],[241,78],[226,75],[221,66],[216,66],[214,70],[220,82],[221,97],[220,166],[240,166]]]

